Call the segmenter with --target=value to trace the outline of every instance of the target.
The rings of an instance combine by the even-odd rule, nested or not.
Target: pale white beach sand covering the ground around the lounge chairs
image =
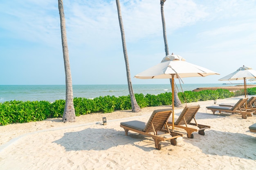
[[[217,100],[235,103],[240,97]],[[250,96],[249,96],[250,97]],[[195,103],[189,103],[195,104]],[[1,170],[102,170],[102,169],[239,169],[256,168],[256,133],[248,127],[256,123],[256,115],[242,119],[240,114],[213,115],[206,106],[213,100],[197,102],[198,124],[211,126],[205,135],[184,135],[177,146],[161,142],[155,149],[154,140],[132,131],[125,136],[119,124],[128,120],[147,122],[155,109],[148,107],[140,113],[116,111],[77,117],[74,123],[61,119],[0,126]],[[175,109],[175,117],[182,108]],[[107,118],[103,126],[102,117]],[[122,119],[121,119],[122,118]],[[186,134],[183,129],[175,131]]]

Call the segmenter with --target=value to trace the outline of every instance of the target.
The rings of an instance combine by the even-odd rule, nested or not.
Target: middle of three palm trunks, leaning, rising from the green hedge
[[[139,105],[138,105],[138,103],[135,99],[133,89],[132,89],[132,81],[131,81],[131,76],[130,76],[128,54],[127,54],[126,41],[125,41],[125,35],[124,35],[124,25],[123,25],[123,20],[122,20],[122,15],[121,15],[121,7],[120,7],[119,0],[116,0],[116,3],[117,3],[117,13],[118,13],[122,43],[123,43],[124,61],[125,61],[125,64],[126,64],[126,76],[127,76],[127,81],[128,81],[128,89],[129,89],[129,94],[130,94],[130,99],[131,99],[132,112],[139,112],[139,111],[141,111],[141,109],[139,108]]]

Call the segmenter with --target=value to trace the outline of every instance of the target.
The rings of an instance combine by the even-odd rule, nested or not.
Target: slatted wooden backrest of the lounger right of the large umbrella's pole
[[[180,113],[179,118],[176,120],[176,125],[184,125],[189,124],[191,120],[194,118],[195,114],[200,109],[199,105],[190,105],[186,106],[183,111]],[[186,121],[186,122],[185,122]]]

